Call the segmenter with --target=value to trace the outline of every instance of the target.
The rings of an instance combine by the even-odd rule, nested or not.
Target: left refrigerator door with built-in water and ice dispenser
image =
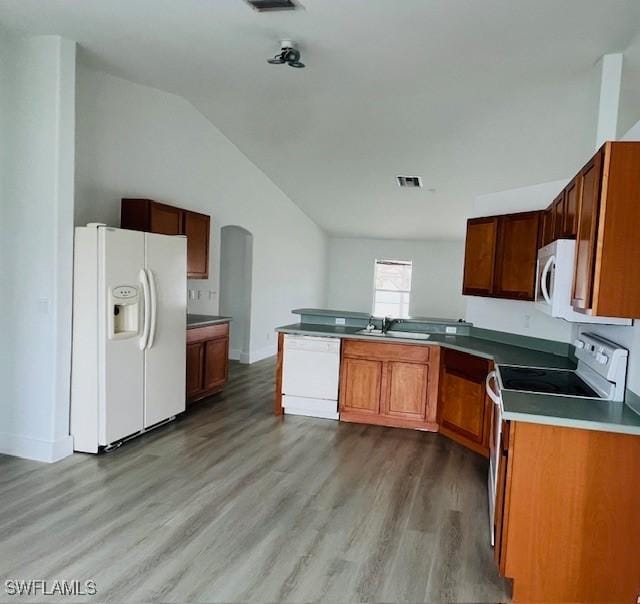
[[[144,233],[101,228],[98,250],[98,425],[108,445],[142,430]]]

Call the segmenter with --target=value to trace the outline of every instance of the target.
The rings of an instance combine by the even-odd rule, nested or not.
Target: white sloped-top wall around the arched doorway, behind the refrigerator
[[[120,198],[149,197],[210,214],[214,292],[190,305],[218,312],[220,228],[253,234],[251,360],[275,353],[274,327],[297,306],[324,306],[326,236],[189,102],[85,66],[78,69],[76,224],[119,224]]]

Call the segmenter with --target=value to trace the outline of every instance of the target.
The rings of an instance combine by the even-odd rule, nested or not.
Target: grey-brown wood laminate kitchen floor
[[[81,602],[505,602],[487,462],[437,434],[272,414],[274,362],[99,456],[0,456],[6,579]],[[31,598],[51,601],[56,598]]]

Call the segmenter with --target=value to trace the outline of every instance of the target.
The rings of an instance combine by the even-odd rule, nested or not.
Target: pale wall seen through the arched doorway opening
[[[220,314],[232,315],[229,357],[249,362],[253,236],[237,226],[220,232]]]

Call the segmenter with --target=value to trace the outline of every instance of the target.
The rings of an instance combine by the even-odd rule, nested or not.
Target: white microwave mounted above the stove
[[[536,271],[536,308],[552,317],[573,323],[631,325],[631,319],[592,317],[573,310],[571,294],[576,242],[558,239],[538,250]]]

